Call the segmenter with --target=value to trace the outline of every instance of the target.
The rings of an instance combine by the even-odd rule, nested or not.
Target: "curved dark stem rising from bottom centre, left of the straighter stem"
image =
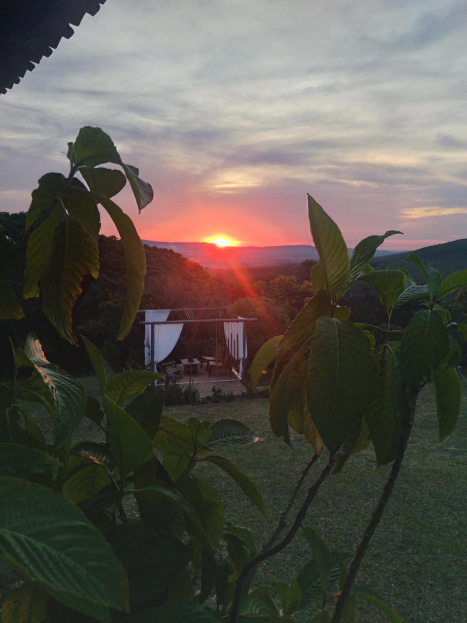
[[[240,573],[237,579],[237,586],[235,587],[234,599],[232,601],[232,607],[230,608],[229,623],[237,623],[238,607],[240,606],[240,600],[242,599],[243,587],[245,586],[245,584],[247,584],[248,578],[250,578],[250,575],[255,570],[255,568],[258,566],[258,564],[262,563],[267,558],[274,556],[275,554],[282,551],[282,549],[286,548],[286,546],[290,543],[290,541],[296,535],[296,533],[298,532],[298,529],[303,523],[303,520],[306,516],[306,512],[308,511],[308,508],[311,505],[311,502],[313,502],[314,497],[316,496],[316,493],[318,493],[319,487],[321,487],[324,480],[326,480],[326,478],[329,476],[329,473],[331,473],[331,470],[333,469],[337,460],[341,459],[341,457],[346,456],[347,452],[349,452],[349,449],[351,449],[353,445],[355,444],[356,439],[358,437],[357,429],[358,429],[359,424],[360,424],[360,421],[357,422],[356,426],[352,428],[352,430],[349,432],[349,434],[347,435],[346,442],[344,446],[342,447],[342,449],[339,450],[339,452],[337,452],[334,455],[329,455],[328,464],[326,465],[326,467],[324,467],[323,471],[319,474],[316,481],[309,488],[308,493],[306,494],[306,498],[304,499],[304,502],[301,505],[301,508],[296,515],[295,521],[293,522],[293,525],[291,526],[288,533],[286,533],[283,540],[281,540],[280,543],[278,543],[278,545],[276,545],[275,547],[261,551],[257,556],[255,556],[255,558],[252,558],[243,567],[242,573]],[[302,477],[303,477],[303,474],[302,474]]]

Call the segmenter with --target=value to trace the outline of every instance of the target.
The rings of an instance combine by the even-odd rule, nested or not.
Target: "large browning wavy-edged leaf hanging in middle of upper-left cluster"
[[[97,241],[75,219],[65,215],[57,227],[54,252],[40,279],[42,308],[62,338],[77,342],[73,333],[73,308],[82,293],[86,275],[97,279]]]

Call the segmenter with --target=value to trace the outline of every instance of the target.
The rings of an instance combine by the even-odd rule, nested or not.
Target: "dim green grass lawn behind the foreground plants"
[[[95,379],[81,380],[90,394],[100,396]],[[467,389],[466,381],[463,387]],[[260,487],[269,509],[269,521],[217,467],[202,464],[196,470],[199,477],[209,480],[219,490],[227,520],[250,528],[257,544],[262,545],[274,530],[301,470],[311,459],[311,446],[299,435],[292,434],[292,448],[289,448],[273,435],[267,399],[167,407],[164,414],[181,421],[188,417],[211,422],[234,418],[259,435],[255,445],[228,447],[219,454],[234,461]],[[40,419],[42,426],[44,420]],[[100,440],[100,433],[86,420],[75,437]],[[466,621],[466,434],[464,397],[455,432],[439,444],[433,389],[425,388],[418,400],[415,426],[394,494],[357,576],[357,583],[380,592],[406,623]],[[322,457],[315,465],[305,482],[303,495],[307,483],[311,485],[325,461],[326,457]],[[369,448],[352,457],[339,475],[326,480],[309,510],[307,522],[329,548],[354,553],[389,470],[390,467],[375,470],[374,455]],[[299,534],[288,548],[258,568],[257,582],[290,581],[309,558],[308,545]],[[374,609],[364,607],[358,620],[374,623],[384,619]]]

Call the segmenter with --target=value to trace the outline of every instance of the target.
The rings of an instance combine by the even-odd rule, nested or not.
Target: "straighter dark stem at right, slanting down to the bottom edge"
[[[397,446],[396,458],[394,460],[394,463],[392,464],[389,478],[384,486],[381,497],[379,498],[378,505],[375,508],[370,523],[368,524],[363,538],[359,546],[357,547],[356,554],[349,568],[349,573],[347,574],[346,583],[344,584],[341,595],[337,600],[336,609],[334,610],[334,616],[331,623],[339,623],[339,621],[341,620],[342,612],[344,611],[347,597],[349,596],[352,585],[354,584],[357,571],[360,568],[362,560],[370,544],[370,540],[374,535],[375,530],[381,520],[384,509],[389,502],[390,495],[394,488],[394,483],[399,475],[400,467],[402,466],[403,456],[405,454],[405,449],[407,448],[408,437],[410,437],[410,431],[412,430],[413,412],[415,411],[415,404],[417,402],[417,396],[419,391],[420,388],[407,388],[407,404],[405,408],[405,414],[403,415],[402,419],[402,432],[400,434],[399,445]]]

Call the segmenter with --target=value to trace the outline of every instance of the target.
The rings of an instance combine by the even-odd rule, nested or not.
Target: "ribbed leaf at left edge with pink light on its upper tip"
[[[34,333],[29,333],[24,345],[27,361],[40,374],[45,385],[52,391],[55,403],[55,445],[61,445],[77,429],[85,410],[86,393],[82,384],[50,363]]]

